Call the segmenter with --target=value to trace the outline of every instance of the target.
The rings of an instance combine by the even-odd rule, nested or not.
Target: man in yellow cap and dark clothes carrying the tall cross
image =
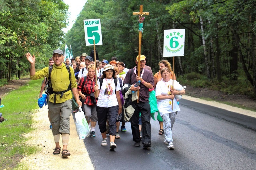
[[[136,103],[136,108],[134,114],[131,117],[131,131],[134,146],[140,146],[140,131],[139,131],[139,115],[141,113],[142,119],[142,144],[144,148],[149,148],[151,146],[151,125],[150,125],[150,104],[149,104],[149,91],[148,89],[152,89],[154,86],[154,78],[150,71],[144,69],[144,65],[146,63],[146,56],[141,55],[140,61],[138,60],[138,56],[136,58],[136,64],[140,62],[140,76],[138,75],[138,68],[136,66],[135,69],[130,69],[127,72],[127,75],[124,79],[125,84],[133,84],[131,87],[131,91],[139,90],[139,102]],[[140,80],[140,86],[134,87],[135,83]]]

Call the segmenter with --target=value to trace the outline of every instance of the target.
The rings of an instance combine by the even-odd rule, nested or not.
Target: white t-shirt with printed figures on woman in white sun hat
[[[100,80],[97,81],[98,86],[100,86]],[[118,101],[116,98],[115,91],[120,91],[120,82],[117,78],[117,87],[115,86],[114,79],[103,79],[102,85],[100,87],[100,94],[97,101],[97,106],[99,107],[112,107],[117,106]]]

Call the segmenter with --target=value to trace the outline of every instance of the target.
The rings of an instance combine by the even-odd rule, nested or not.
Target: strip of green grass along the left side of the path
[[[0,169],[13,168],[23,155],[37,151],[36,148],[24,145],[28,140],[24,134],[33,130],[31,116],[39,108],[37,99],[41,83],[42,79],[31,80],[2,98],[1,104],[4,107],[0,112],[7,121],[0,123]]]

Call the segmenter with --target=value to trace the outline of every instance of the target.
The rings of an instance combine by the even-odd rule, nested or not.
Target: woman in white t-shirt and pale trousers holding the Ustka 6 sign
[[[177,112],[180,111],[175,95],[184,95],[185,90],[179,82],[170,79],[171,72],[168,68],[163,68],[160,73],[163,79],[156,84],[157,108],[163,119],[165,140],[168,142],[167,148],[174,149],[172,143],[172,126],[175,122]],[[174,87],[174,90],[172,87]],[[177,91],[177,89],[181,90]]]

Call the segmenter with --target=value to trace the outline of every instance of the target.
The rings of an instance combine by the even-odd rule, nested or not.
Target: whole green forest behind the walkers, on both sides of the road
[[[185,29],[185,55],[175,58],[175,73],[198,73],[209,80],[242,79],[256,92],[256,1],[254,0],[87,0],[66,35],[67,8],[61,0],[2,1],[0,78],[8,79],[28,70],[25,52],[37,54],[37,67],[46,65],[54,48],[72,45],[74,56],[90,53],[86,46],[84,19],[101,20],[103,45],[99,58],[116,56],[127,68],[138,55],[138,17],[132,12],[150,12],[143,22],[142,51],[147,65],[158,71],[163,58],[163,32]]]

